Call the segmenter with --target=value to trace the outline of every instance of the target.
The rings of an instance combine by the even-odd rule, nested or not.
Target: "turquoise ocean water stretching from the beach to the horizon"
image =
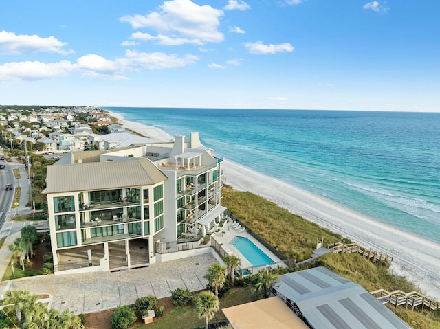
[[[440,113],[105,109],[440,242]]]

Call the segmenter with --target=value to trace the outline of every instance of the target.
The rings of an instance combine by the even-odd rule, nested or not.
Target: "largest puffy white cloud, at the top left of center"
[[[163,45],[219,43],[224,39],[218,31],[219,19],[224,14],[221,10],[190,0],[165,1],[159,9],[146,16],[123,16],[120,21],[130,23],[134,29],[150,27],[156,30],[156,38]]]

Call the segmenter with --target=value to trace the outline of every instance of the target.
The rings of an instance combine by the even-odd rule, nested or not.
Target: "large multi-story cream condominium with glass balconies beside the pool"
[[[131,269],[197,247],[227,218],[221,163],[198,133],[67,153],[44,190],[55,273]]]

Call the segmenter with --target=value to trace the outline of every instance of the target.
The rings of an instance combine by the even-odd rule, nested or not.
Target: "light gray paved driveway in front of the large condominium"
[[[206,288],[203,278],[208,267],[217,260],[211,253],[168,262],[157,262],[143,269],[113,273],[40,275],[0,283],[0,291],[29,290],[49,294],[52,308],[73,313],[90,313],[119,305],[133,304],[137,297],[155,295],[170,297],[177,288],[199,291]]]

